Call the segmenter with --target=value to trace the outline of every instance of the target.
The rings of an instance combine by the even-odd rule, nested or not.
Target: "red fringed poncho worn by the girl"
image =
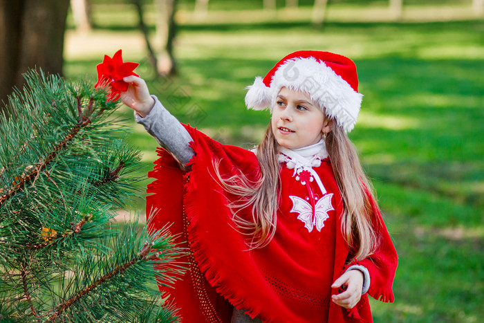
[[[189,264],[183,279],[173,289],[160,286],[180,308],[182,321],[230,322],[232,306],[236,306],[263,322],[371,322],[366,294],[351,311],[331,302],[331,295],[341,292],[332,290],[331,284],[355,262],[345,264],[349,250],[339,229],[343,203],[329,160],[315,167],[327,192],[313,183],[313,189],[308,189],[314,190],[316,199],[328,194],[326,203],[331,207],[322,213],[322,228],[298,219],[306,205],[301,200],[309,201],[308,190],[295,180],[292,169],[283,167],[274,239],[264,248],[248,250],[247,237],[234,229],[227,194],[212,176],[213,161],[220,161],[224,178],[243,172],[254,180],[260,175],[256,156],[221,145],[191,127],[187,130],[194,140],[192,171],[181,171],[174,158],[160,149],[160,158],[149,172],[156,181],[147,189],[152,193],[147,196],[147,214],[157,211],[150,230],[173,223],[171,232],[181,233],[179,241],[189,250],[182,259]],[[368,294],[393,302],[397,255],[384,225],[378,230],[380,250],[358,264],[369,270]]]

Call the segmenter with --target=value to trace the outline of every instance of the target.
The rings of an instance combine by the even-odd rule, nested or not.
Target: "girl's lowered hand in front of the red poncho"
[[[331,288],[346,286],[346,290],[331,296],[333,302],[344,308],[353,308],[362,297],[363,273],[360,270],[349,270],[331,285]]]

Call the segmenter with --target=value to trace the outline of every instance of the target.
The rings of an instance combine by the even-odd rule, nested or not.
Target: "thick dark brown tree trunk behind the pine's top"
[[[68,8],[69,0],[0,0],[0,100],[28,68],[62,75]]]

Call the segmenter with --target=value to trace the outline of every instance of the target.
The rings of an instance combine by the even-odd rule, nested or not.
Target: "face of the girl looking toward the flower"
[[[314,145],[331,130],[331,121],[308,93],[286,87],[277,95],[271,124],[277,143],[288,149]]]

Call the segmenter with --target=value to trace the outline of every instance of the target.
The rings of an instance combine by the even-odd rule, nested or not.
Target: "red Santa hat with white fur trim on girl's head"
[[[289,54],[266,77],[256,77],[254,84],[247,87],[245,105],[254,110],[269,107],[272,112],[284,86],[308,93],[345,131],[355,127],[363,95],[358,93],[355,63],[348,57],[317,50]]]

